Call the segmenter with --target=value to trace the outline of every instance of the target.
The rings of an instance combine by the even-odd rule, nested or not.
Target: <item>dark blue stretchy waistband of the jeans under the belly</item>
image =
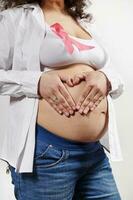
[[[51,131],[47,130],[46,128],[42,127],[41,125],[36,123],[36,137],[46,143],[53,144],[58,148],[64,149],[87,149],[87,150],[96,150],[102,145],[99,141],[96,142],[77,142],[72,141],[61,136],[55,135]]]

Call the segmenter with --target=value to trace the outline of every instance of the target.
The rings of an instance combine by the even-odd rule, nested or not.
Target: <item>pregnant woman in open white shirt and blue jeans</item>
[[[12,8],[0,15],[0,94],[10,96],[12,132],[0,157],[16,199],[120,200],[100,140],[110,127],[108,96],[119,96],[122,82],[100,70],[106,51],[77,20],[91,18],[85,2],[3,4]]]

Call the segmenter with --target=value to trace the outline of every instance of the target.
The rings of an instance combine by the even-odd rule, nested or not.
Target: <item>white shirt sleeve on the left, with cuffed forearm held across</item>
[[[8,11],[0,12],[0,95],[39,98],[38,83],[43,72],[13,70],[13,24]]]

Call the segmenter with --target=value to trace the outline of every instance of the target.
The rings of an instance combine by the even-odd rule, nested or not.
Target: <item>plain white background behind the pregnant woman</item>
[[[114,100],[123,162],[111,163],[122,200],[133,199],[133,1],[93,0],[89,12],[102,34],[111,59],[125,80],[125,92]],[[0,136],[6,131],[8,98],[0,97]],[[2,142],[2,137],[0,137]],[[0,162],[0,199],[14,200],[10,175],[5,174],[5,163]]]

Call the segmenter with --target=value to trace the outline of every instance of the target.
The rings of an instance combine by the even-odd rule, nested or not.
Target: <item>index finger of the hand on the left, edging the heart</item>
[[[72,98],[71,94],[68,92],[67,88],[64,84],[59,85],[58,87],[60,94],[62,95],[62,98],[64,99],[63,105],[68,109],[75,110],[76,104],[74,102],[74,99]]]

